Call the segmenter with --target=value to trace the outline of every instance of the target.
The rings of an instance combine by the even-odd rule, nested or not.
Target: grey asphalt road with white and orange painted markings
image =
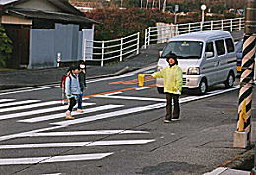
[[[232,148],[238,87],[185,91],[181,120],[165,124],[154,80],[137,86],[154,69],[89,80],[75,120],[58,85],[1,91],[0,174],[203,174],[246,151]]]

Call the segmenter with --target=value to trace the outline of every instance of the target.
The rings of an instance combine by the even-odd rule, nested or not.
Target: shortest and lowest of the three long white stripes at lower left
[[[0,159],[0,165],[20,165],[20,164],[38,164],[38,163],[41,164],[41,163],[66,162],[66,161],[98,160],[112,154],[113,152],[79,154],[79,155],[63,155],[63,156],[54,156],[54,157],[5,158],[5,159]]]

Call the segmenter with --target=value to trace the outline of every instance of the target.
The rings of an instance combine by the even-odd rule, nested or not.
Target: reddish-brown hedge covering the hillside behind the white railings
[[[143,38],[144,30],[148,27],[155,26],[156,22],[174,22],[174,15],[172,13],[160,13],[158,10],[141,8],[96,9],[87,12],[86,16],[101,23],[96,25],[95,40],[111,40],[125,37],[136,32],[141,32],[141,37]],[[228,16],[228,18],[234,17],[233,15]],[[221,20],[224,18],[226,18],[226,15],[221,14],[206,17],[205,20]],[[200,20],[200,12],[188,13],[186,16],[178,16],[178,23],[199,22]]]

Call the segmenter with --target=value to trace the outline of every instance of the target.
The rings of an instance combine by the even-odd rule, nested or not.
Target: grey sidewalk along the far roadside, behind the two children
[[[164,46],[165,44],[150,45],[146,50],[141,49],[139,55],[125,59],[123,62],[116,64],[109,64],[103,67],[87,66],[87,78],[117,75],[156,64],[159,58],[159,50],[162,50]],[[67,69],[68,68],[48,68],[0,71],[0,90],[59,83]]]

